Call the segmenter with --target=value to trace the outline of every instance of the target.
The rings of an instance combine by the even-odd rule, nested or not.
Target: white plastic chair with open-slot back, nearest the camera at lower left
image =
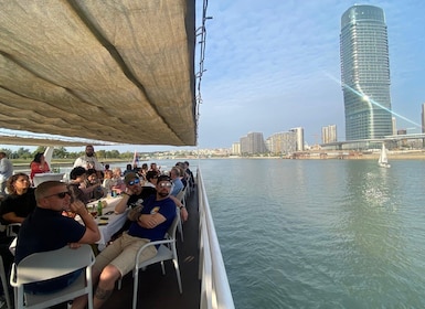
[[[87,295],[88,308],[93,309],[92,265],[95,256],[89,245],[77,249],[68,246],[56,251],[35,253],[26,256],[18,265],[13,263],[10,284],[14,287],[17,308],[41,309]],[[53,294],[30,295],[23,289],[24,284],[56,278],[77,269],[85,271],[68,287]]]

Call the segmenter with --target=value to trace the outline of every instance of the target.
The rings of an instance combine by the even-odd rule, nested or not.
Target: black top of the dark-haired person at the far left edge
[[[28,191],[22,194],[10,194],[1,202],[0,217],[1,222],[8,224],[10,222],[4,221],[3,214],[14,212],[17,216],[26,217],[36,206],[34,188],[29,188]]]

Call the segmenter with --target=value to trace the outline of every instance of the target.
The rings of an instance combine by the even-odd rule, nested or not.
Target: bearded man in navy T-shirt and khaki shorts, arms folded
[[[169,198],[171,181],[167,175],[158,179],[157,193],[144,201],[144,207],[132,222],[128,232],[107,246],[97,257],[93,266],[94,284],[98,281],[94,295],[94,308],[108,299],[114,290],[115,281],[131,271],[138,249],[148,242],[163,239],[168,228],[176,217],[176,204]],[[141,260],[149,259],[157,254],[155,246],[145,252]],[[85,300],[87,300],[85,298]],[[79,301],[79,299],[78,299]],[[84,308],[85,303],[76,308]]]

